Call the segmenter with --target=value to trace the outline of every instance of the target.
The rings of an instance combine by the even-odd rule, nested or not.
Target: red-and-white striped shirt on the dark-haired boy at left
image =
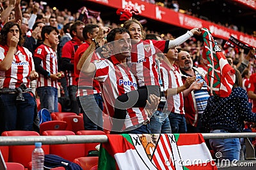
[[[58,73],[58,59],[55,51],[47,45],[40,45],[36,48],[34,57],[42,59],[40,66],[51,74]],[[51,80],[43,74],[38,74],[37,87],[55,87],[57,88],[57,80]]]

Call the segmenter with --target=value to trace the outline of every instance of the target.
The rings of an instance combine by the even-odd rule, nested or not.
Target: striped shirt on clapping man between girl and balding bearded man
[[[173,68],[165,64],[161,64],[161,74],[163,80],[164,91],[170,88],[177,88],[183,85],[181,74],[179,73],[179,68],[173,65]],[[167,97],[166,103],[168,104],[168,111],[173,113],[185,114],[184,112],[184,101],[183,94],[175,94],[174,96]]]

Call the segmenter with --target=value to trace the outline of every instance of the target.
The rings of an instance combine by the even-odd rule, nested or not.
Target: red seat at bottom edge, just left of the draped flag
[[[99,157],[80,157],[74,159],[73,162],[81,166],[83,169],[91,169],[98,165]]]

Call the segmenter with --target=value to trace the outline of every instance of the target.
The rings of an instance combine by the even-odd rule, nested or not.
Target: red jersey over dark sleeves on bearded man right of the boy
[[[70,41],[67,41],[62,48],[61,58],[70,59],[70,63],[74,64],[74,56],[76,53],[77,48],[82,45],[81,40],[78,38],[73,38]],[[77,85],[74,70],[67,71],[67,85]]]

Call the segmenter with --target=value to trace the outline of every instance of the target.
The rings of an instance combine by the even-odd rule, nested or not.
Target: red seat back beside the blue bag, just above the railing
[[[52,120],[40,124],[40,135],[44,131],[65,131],[67,128],[67,122],[61,120]]]

